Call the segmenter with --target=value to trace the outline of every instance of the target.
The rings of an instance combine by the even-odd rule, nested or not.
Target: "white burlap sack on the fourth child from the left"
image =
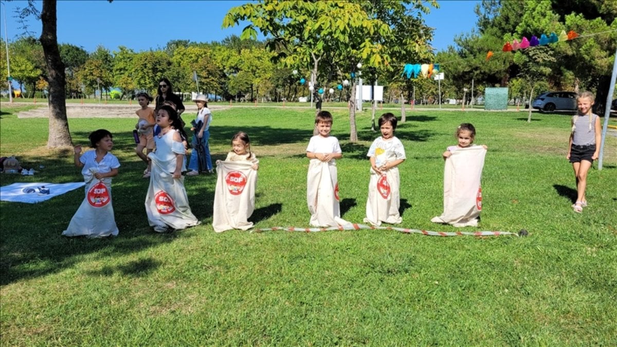
[[[311,159],[307,174],[307,203],[310,225],[313,227],[337,227],[349,224],[341,219],[339,184],[335,162]]]

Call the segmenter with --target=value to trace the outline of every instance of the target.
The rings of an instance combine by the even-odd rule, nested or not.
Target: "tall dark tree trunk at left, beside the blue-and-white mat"
[[[68,131],[67,105],[65,100],[66,78],[64,63],[60,59],[56,35],[56,0],[43,0],[41,12],[41,46],[45,54],[49,83],[49,135],[48,148],[72,146]]]

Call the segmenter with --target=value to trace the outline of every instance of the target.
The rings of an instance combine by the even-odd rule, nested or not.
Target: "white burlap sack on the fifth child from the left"
[[[368,199],[366,200],[365,223],[379,227],[381,222],[400,224],[403,219],[399,214],[400,178],[399,168],[393,167],[379,175],[371,167],[368,182]]]

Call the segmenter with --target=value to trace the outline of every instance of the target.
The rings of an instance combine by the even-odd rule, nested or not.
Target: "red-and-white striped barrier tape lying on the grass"
[[[327,232],[330,230],[360,230],[360,229],[371,229],[371,230],[395,230],[397,232],[408,233],[408,234],[422,234],[428,236],[501,236],[501,235],[514,235],[514,236],[526,236],[526,230],[521,230],[520,233],[510,233],[510,232],[487,232],[487,231],[479,231],[479,232],[431,232],[429,230],[419,230],[419,229],[408,229],[408,228],[396,228],[396,227],[373,227],[372,225],[365,224],[348,224],[339,227],[329,227],[329,228],[296,228],[296,227],[274,227],[274,228],[259,228],[254,229],[254,232],[273,232],[282,230],[284,232],[305,232],[305,233],[313,233],[313,232]],[[523,233],[524,232],[524,233]]]

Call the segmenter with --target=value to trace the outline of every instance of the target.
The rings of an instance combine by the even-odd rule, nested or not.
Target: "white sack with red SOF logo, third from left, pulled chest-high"
[[[222,161],[217,165],[217,186],[214,193],[212,227],[217,233],[225,230],[248,230],[253,223],[247,219],[255,209],[257,171],[250,161]]]

